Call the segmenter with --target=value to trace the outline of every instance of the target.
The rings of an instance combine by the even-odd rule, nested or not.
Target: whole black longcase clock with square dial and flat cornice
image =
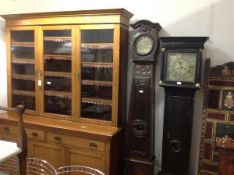
[[[160,175],[188,175],[194,95],[200,89],[207,37],[162,37],[159,85],[165,89]]]

